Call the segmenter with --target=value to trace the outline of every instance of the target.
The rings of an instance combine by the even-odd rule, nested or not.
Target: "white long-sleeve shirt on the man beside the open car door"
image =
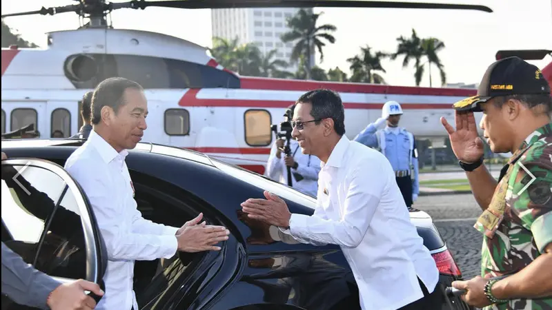
[[[117,153],[92,130],[65,166],[88,196],[108,251],[105,294],[96,309],[138,309],[132,290],[135,260],[171,258],[178,247],[178,228],[152,223],[138,211],[127,154]]]

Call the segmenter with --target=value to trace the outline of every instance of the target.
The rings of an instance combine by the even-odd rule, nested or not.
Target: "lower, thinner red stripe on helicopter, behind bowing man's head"
[[[293,101],[248,99],[199,99],[200,89],[190,89],[182,96],[181,107],[288,107]],[[381,110],[384,103],[343,103],[346,109]],[[403,103],[403,110],[451,109],[452,103]]]

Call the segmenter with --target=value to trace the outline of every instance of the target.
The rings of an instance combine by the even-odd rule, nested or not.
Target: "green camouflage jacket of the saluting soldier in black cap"
[[[508,176],[510,165],[514,167]],[[508,183],[504,218],[492,238],[483,236],[483,277],[488,273],[501,276],[520,271],[552,242],[552,123],[526,138],[520,151],[502,169],[499,186],[500,182]],[[491,309],[552,309],[552,298],[515,299],[484,308]]]

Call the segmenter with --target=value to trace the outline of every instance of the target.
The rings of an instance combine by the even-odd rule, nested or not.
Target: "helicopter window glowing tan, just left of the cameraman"
[[[272,119],[267,110],[247,110],[244,113],[245,138],[250,146],[266,146],[272,142],[270,124]]]

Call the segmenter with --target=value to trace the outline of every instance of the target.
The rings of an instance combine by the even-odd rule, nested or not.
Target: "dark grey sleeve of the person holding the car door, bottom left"
[[[28,265],[2,242],[2,293],[18,304],[49,309],[48,295],[59,285],[61,282]]]

